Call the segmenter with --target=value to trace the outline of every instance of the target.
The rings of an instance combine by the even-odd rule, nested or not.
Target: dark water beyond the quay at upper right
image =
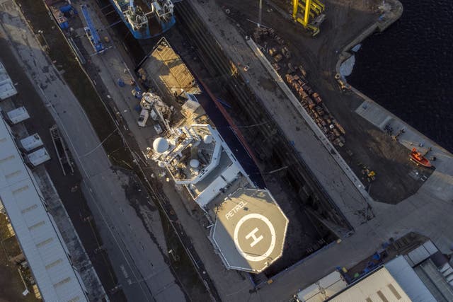
[[[348,82],[453,152],[453,1],[400,1],[403,16],[363,42]]]

